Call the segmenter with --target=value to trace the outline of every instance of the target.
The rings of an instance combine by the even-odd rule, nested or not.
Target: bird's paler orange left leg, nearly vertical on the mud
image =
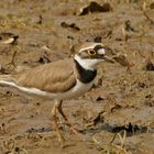
[[[53,110],[52,110],[52,119],[53,119],[53,125],[54,125],[54,129],[57,133],[57,138],[58,138],[58,141],[63,141],[63,136],[59,132],[59,128],[58,128],[58,123],[57,123],[57,116],[56,116],[56,110],[57,110],[57,106],[58,106],[58,101],[55,102],[54,107],[53,107]]]

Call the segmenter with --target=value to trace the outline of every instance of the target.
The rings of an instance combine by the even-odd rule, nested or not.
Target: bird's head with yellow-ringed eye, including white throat
[[[101,43],[87,43],[75,54],[75,59],[86,69],[95,69],[100,62],[113,63],[112,51]]]

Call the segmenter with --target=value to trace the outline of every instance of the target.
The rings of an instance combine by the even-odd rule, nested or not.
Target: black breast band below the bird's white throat
[[[97,69],[90,70],[90,69],[85,69],[76,59],[75,59],[76,68],[79,74],[78,79],[88,84],[95,79],[97,76]]]

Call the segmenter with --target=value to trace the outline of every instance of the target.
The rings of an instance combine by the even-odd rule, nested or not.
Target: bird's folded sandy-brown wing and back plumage
[[[43,91],[64,92],[76,85],[72,59],[45,64],[13,76],[19,86],[38,88]]]

